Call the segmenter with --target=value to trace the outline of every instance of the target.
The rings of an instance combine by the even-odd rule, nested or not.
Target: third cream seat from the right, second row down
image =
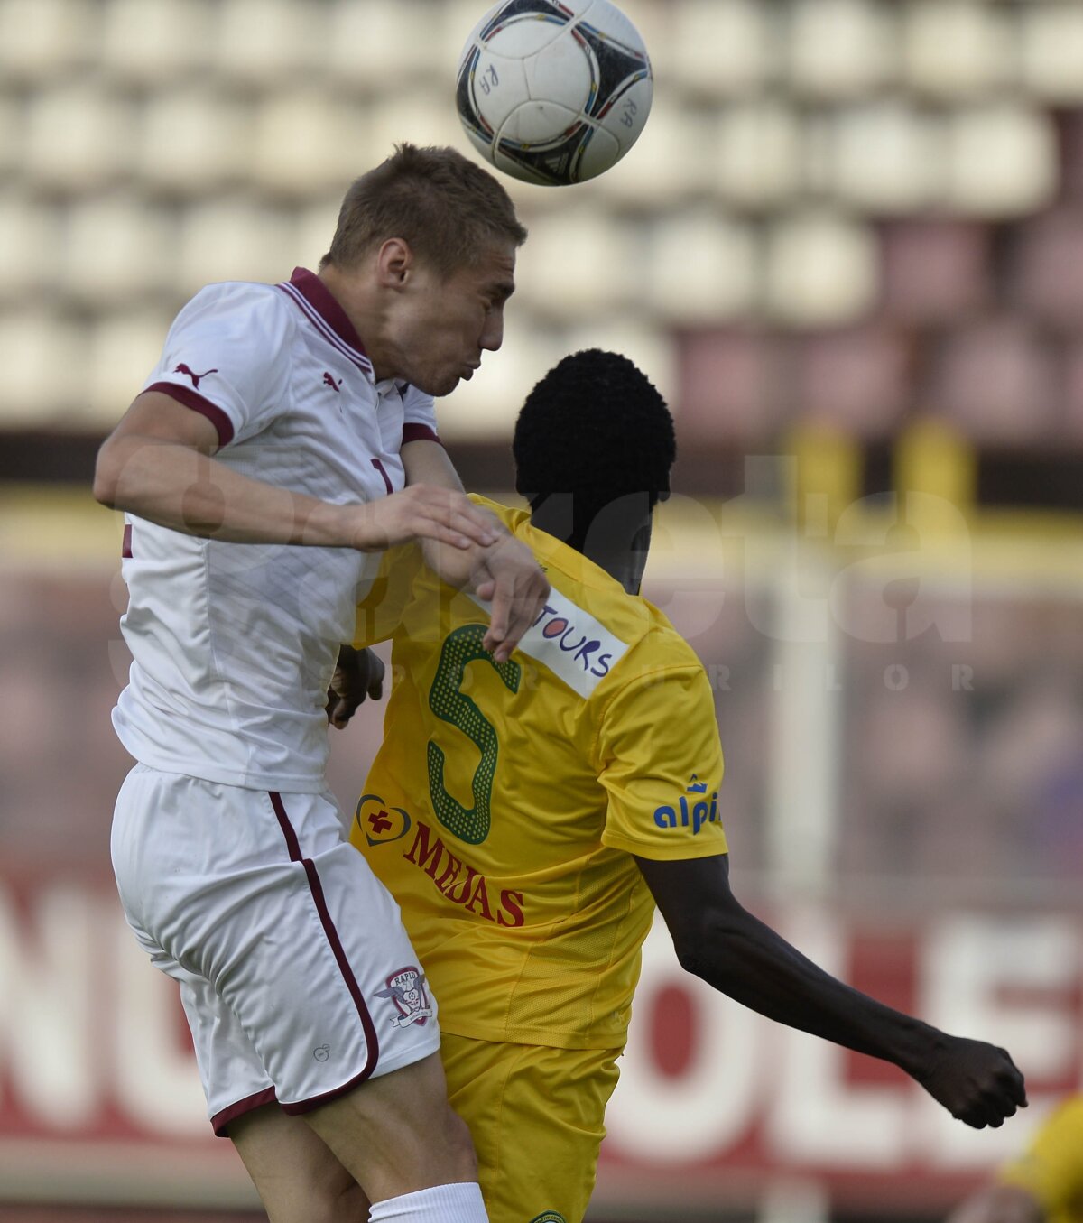
[[[797,113],[777,99],[762,98],[726,106],[713,155],[700,153],[699,160],[707,164],[722,199],[738,208],[762,209],[798,193],[802,154]]]

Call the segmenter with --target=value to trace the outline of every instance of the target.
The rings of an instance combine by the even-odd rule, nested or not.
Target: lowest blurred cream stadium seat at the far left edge
[[[0,316],[0,421],[5,426],[34,428],[64,419],[86,394],[84,368],[86,336],[61,314],[17,305]]]

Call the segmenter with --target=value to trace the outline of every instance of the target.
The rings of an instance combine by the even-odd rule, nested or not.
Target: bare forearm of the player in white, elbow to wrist
[[[95,495],[160,526],[230,543],[353,547],[364,512],[251,479],[188,446],[138,437],[111,443]]]

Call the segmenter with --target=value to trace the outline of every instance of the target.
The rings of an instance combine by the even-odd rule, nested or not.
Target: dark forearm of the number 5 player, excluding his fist
[[[941,1036],[830,976],[743,909],[716,923],[682,964],[768,1019],[911,1074]]]

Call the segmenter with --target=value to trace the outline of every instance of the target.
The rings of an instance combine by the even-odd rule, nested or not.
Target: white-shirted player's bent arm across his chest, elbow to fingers
[[[139,395],[98,453],[94,497],[110,509],[231,543],[379,552],[414,538],[486,545],[493,523],[461,492],[418,486],[378,501],[331,505],[233,471],[218,433],[161,391]]]

